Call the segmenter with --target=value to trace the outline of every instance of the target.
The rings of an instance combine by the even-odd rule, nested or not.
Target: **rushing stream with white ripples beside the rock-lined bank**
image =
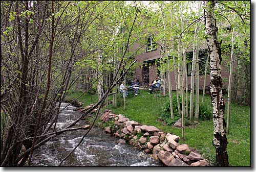
[[[67,106],[61,103],[60,109]],[[56,129],[64,129],[81,114],[68,106],[60,114]],[[75,127],[84,125],[80,121]],[[87,130],[77,130],[54,137],[33,154],[33,166],[58,166],[81,140]],[[129,144],[119,144],[118,138],[93,127],[75,152],[61,166],[162,166],[150,155]]]

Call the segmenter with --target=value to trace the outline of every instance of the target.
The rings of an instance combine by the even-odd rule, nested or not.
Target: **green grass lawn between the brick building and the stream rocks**
[[[69,96],[78,97],[80,94],[80,92],[72,93]],[[173,91],[173,94],[176,94],[176,92]],[[112,109],[113,113],[123,114],[131,120],[138,121],[140,124],[156,126],[164,132],[181,137],[180,128],[163,126],[161,122],[157,121],[163,104],[168,101],[168,96],[155,95],[159,94],[148,94],[146,90],[140,90],[139,95],[134,96],[132,94],[126,98],[125,110],[123,106],[115,108],[110,105],[108,108]],[[201,98],[202,96],[200,95],[200,100]],[[96,99],[96,95],[86,94],[79,101],[82,101],[84,105],[89,105],[94,103]],[[205,103],[211,107],[208,95],[205,96]],[[123,105],[123,102],[121,102],[121,105]],[[225,112],[225,118],[226,116]],[[196,148],[211,164],[214,164],[215,148],[212,145],[214,125],[212,120],[200,120],[199,122],[196,127],[185,128],[185,140],[180,140],[180,142]],[[227,139],[230,166],[250,166],[250,107],[231,104],[230,133],[227,134]]]

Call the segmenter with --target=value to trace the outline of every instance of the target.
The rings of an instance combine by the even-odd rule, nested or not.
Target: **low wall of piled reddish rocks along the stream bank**
[[[100,119],[106,126],[106,133],[120,137],[119,143],[132,144],[166,166],[209,166],[196,149],[180,144],[179,136],[164,133],[154,126],[140,125],[108,109]]]

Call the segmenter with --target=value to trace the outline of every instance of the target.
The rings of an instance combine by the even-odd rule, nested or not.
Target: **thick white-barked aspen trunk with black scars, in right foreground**
[[[228,166],[225,105],[222,96],[221,47],[217,39],[216,19],[214,18],[214,1],[204,1],[205,35],[210,53],[210,94],[213,107],[214,139],[217,166]]]

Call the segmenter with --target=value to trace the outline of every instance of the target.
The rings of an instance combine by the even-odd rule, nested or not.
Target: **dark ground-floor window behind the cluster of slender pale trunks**
[[[193,60],[193,52],[186,52],[187,56],[187,76],[191,76],[191,69],[192,69],[192,60]],[[208,56],[208,50],[201,50],[199,51],[198,54],[198,65],[199,65],[199,75],[204,75],[204,70],[205,70],[205,64]],[[209,74],[209,72],[207,71]]]

